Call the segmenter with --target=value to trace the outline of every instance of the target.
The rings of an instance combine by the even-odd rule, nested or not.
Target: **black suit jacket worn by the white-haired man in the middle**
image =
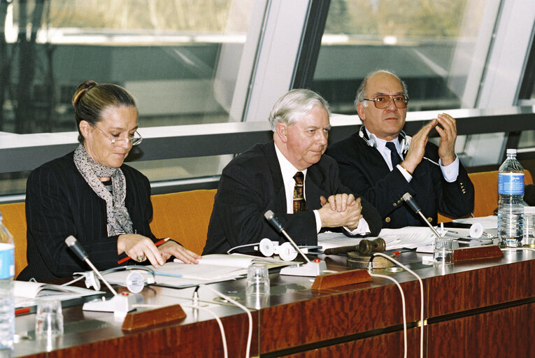
[[[299,244],[318,243],[315,215],[321,208],[320,195],[350,193],[338,179],[338,166],[333,159],[322,156],[306,172],[306,203],[309,211],[287,214],[283,175],[280,172],[273,141],[257,144],[234,158],[224,169],[215,195],[208,239],[203,254],[224,253],[262,238],[285,242],[264,219],[272,210],[287,233]],[[375,208],[362,200],[362,215],[371,235],[380,231],[380,217]]]

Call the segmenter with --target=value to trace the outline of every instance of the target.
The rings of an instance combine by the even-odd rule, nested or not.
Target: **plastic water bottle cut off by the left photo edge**
[[[0,213],[0,352],[13,348],[15,336],[15,245],[13,236],[2,223]]]

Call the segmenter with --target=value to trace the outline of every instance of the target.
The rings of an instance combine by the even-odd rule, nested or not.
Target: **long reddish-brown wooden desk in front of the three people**
[[[512,252],[504,259],[434,267],[404,252],[404,264],[423,279],[425,357],[529,357],[535,350],[535,252]],[[343,269],[341,257],[327,257],[329,268]],[[406,296],[408,357],[420,355],[420,288],[406,272],[392,275]],[[269,301],[253,312],[251,357],[402,357],[401,298],[383,278],[373,282],[311,290],[310,278],[271,274]],[[245,299],[245,280],[222,282],[215,289]],[[191,298],[192,289],[145,288],[148,303],[171,304]],[[201,289],[201,300],[214,294]],[[255,303],[249,303],[255,306]],[[248,321],[243,311],[221,304],[229,357],[244,357]],[[15,345],[14,357],[222,357],[220,332],[206,313],[171,327],[123,334],[110,313],[64,311],[65,334],[52,352],[43,343]],[[34,315],[17,317],[17,332],[33,329]],[[78,330],[78,331],[77,331]],[[31,334],[30,334],[31,336]]]

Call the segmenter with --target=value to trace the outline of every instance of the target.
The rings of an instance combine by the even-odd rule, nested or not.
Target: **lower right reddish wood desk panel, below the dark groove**
[[[429,324],[427,357],[535,357],[535,303]]]

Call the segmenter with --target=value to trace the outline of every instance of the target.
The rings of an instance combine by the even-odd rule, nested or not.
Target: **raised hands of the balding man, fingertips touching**
[[[438,125],[440,124],[440,126]],[[435,128],[438,135],[441,136],[438,144],[438,157],[441,158],[442,165],[448,166],[455,161],[455,140],[457,139],[457,123],[452,116],[442,113],[434,120],[425,124],[411,139],[411,146],[408,148],[407,155],[401,166],[412,174],[418,164],[422,162],[425,155],[425,145],[429,138],[429,132]]]

